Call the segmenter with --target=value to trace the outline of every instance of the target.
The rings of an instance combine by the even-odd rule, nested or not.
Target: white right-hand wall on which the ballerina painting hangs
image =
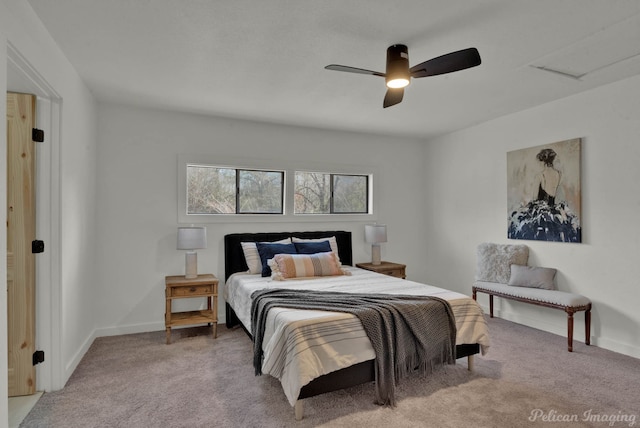
[[[425,148],[426,280],[470,293],[481,242],[524,243],[561,290],[593,301],[594,344],[640,357],[640,77],[456,132]],[[506,153],[582,138],[581,244],[507,240]],[[486,295],[479,301],[488,305]],[[501,317],[566,335],[561,311],[496,299]],[[576,338],[584,339],[582,315]]]

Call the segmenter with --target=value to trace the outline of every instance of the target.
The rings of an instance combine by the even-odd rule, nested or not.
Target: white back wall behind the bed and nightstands
[[[177,251],[179,154],[264,160],[292,167],[364,165],[376,169],[377,220],[388,225],[386,259],[424,274],[421,159],[417,140],[322,131],[113,104],[98,107],[98,335],[164,329],[164,277],[184,273]],[[354,261],[369,261],[365,222],[210,223],[208,248],[198,251],[199,272],[224,278],[223,237],[233,232],[349,230]],[[177,302],[178,309],[183,310]],[[220,315],[223,305],[220,300]]]

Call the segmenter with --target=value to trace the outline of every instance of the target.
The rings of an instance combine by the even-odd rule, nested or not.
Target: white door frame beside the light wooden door
[[[36,366],[36,390],[64,387],[61,288],[60,132],[62,97],[11,44],[7,43],[7,75],[19,76],[22,92],[37,96],[36,126],[45,131],[36,149],[36,233],[45,242],[36,257],[36,349],[45,351]],[[7,82],[7,91],[15,90]],[[6,201],[5,201],[6,206]]]

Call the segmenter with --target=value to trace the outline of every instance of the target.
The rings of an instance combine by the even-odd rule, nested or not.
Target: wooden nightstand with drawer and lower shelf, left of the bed
[[[167,328],[167,345],[171,343],[171,327],[190,324],[211,324],[213,337],[218,337],[218,278],[211,274],[187,279],[183,275],[165,277],[166,311],[164,325]],[[171,312],[173,299],[204,297],[207,309],[187,312]]]

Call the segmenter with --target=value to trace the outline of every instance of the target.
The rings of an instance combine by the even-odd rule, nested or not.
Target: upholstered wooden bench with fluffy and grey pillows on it
[[[573,314],[585,311],[585,343],[590,344],[591,301],[575,293],[556,290],[556,269],[527,266],[526,245],[483,243],[478,246],[478,266],[473,298],[489,295],[493,318],[493,296],[564,310],[567,313],[568,350],[573,351]]]

